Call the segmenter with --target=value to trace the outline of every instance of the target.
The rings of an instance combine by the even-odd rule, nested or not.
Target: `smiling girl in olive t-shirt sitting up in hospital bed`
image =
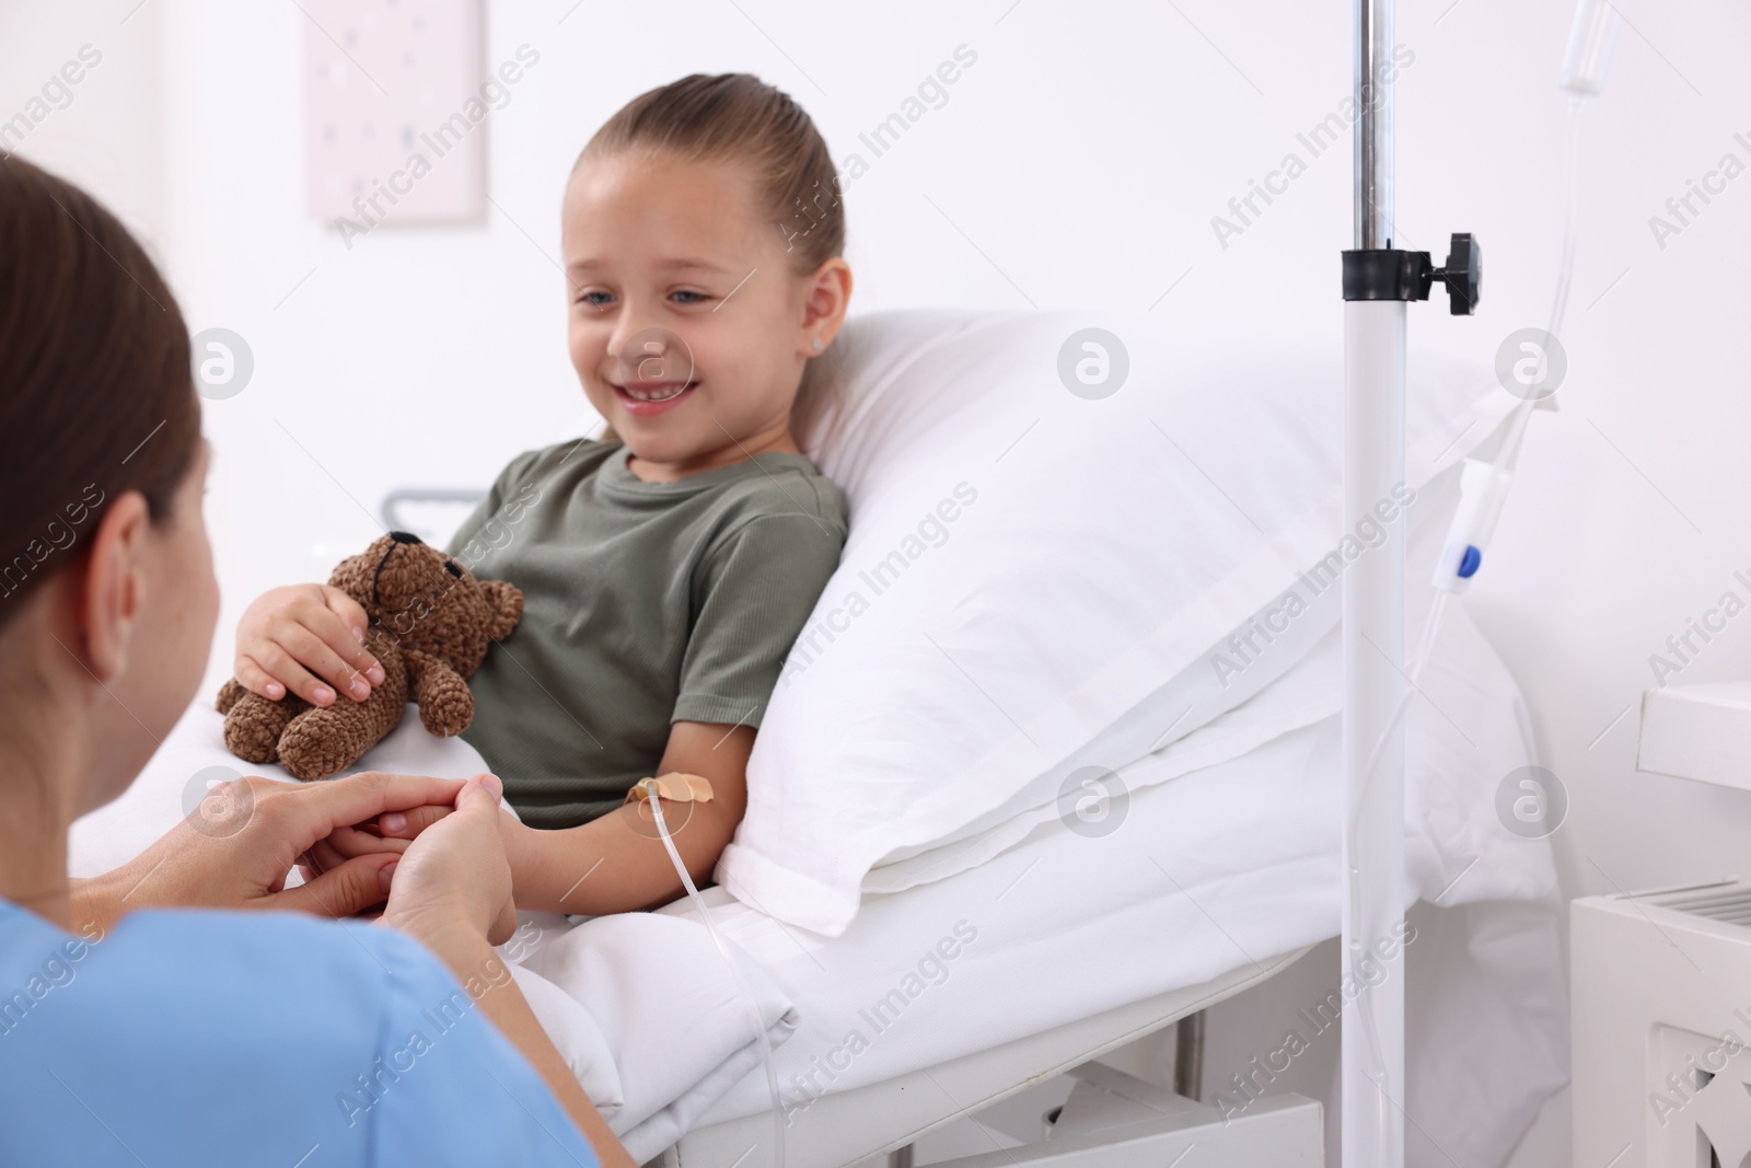
[[[695,879],[741,821],[755,730],[846,538],[844,497],[793,434],[851,268],[826,144],[746,74],[630,102],[562,215],[571,361],[609,429],[515,457],[448,552],[525,599],[469,683],[466,732],[522,816],[504,816],[517,905],[602,914],[681,893],[648,811],[623,804],[641,777],[711,783],[664,806]],[[266,592],[238,622],[236,678],[275,700],[368,697],[383,672],[364,622],[327,585]],[[390,839],[341,832],[310,862],[420,827],[385,818]]]

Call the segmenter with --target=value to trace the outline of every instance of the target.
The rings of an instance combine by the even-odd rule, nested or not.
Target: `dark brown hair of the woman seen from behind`
[[[201,408],[175,296],[95,198],[0,158],[0,625],[126,490],[154,520]]]

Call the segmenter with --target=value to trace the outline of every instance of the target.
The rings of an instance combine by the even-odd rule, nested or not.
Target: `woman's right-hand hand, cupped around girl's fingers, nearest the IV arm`
[[[455,813],[432,823],[392,862],[382,925],[447,953],[485,937],[504,944],[517,932],[511,865],[499,837],[497,776],[476,774],[455,797]],[[366,860],[368,862],[368,860]],[[352,863],[361,863],[354,860]]]

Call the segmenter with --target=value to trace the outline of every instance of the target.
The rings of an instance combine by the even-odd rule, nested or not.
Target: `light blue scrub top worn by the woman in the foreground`
[[[462,984],[390,928],[142,909],[75,935],[0,898],[0,1164],[597,1159]]]

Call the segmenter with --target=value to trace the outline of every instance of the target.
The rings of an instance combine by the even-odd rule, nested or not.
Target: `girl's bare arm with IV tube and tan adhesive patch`
[[[697,774],[711,781],[711,802],[664,800],[664,823],[695,884],[711,877],[748,807],[748,755],[753,727],[676,721],[653,774]],[[648,809],[629,804],[559,832],[531,828],[501,813],[504,853],[518,909],[630,912],[679,897],[681,877],[664,851]]]

